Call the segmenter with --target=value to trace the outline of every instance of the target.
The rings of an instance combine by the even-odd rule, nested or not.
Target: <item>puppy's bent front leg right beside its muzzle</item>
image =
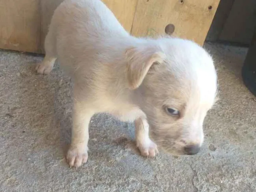
[[[146,157],[155,157],[158,153],[157,145],[150,140],[148,123],[145,118],[138,118],[135,120],[135,136],[136,144],[140,150],[141,155]]]

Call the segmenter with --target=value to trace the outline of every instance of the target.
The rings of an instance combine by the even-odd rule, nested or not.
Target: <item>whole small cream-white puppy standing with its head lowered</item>
[[[64,0],[54,12],[45,51],[37,72],[49,74],[58,58],[74,81],[70,166],[87,161],[89,122],[99,112],[135,121],[144,156],[154,157],[157,145],[176,155],[198,152],[217,91],[213,61],[199,45],[135,38],[101,1]]]

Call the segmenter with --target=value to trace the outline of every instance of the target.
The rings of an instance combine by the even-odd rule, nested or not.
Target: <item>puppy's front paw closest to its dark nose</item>
[[[137,142],[140,154],[144,157],[155,157],[158,153],[157,145],[150,139],[144,142]]]

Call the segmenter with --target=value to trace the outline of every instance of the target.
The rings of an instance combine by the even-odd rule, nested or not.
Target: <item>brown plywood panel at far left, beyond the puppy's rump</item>
[[[0,0],[0,48],[38,52],[39,0]]]

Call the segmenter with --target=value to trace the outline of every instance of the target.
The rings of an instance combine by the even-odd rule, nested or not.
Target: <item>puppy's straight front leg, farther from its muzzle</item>
[[[86,106],[82,102],[74,102],[71,146],[66,155],[70,167],[79,167],[86,163],[88,159],[88,128],[94,113],[90,108],[86,108]]]

